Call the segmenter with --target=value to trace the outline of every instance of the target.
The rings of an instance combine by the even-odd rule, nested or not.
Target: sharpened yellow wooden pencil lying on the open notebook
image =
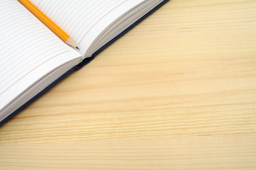
[[[59,28],[53,21],[50,20],[42,11],[40,11],[36,6],[34,6],[31,1],[28,0],[18,0],[23,4],[23,6],[26,6],[31,13],[33,13],[36,17],[38,17],[50,30],[53,30],[53,32],[58,35],[64,42],[66,42],[68,45],[71,45],[75,48],[78,48],[78,45],[75,44],[75,42],[70,38],[70,36],[65,33],[61,28]]]

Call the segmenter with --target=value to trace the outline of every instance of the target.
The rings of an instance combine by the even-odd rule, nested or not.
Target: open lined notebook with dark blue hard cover
[[[65,44],[17,0],[0,2],[0,124],[168,0],[31,0]]]

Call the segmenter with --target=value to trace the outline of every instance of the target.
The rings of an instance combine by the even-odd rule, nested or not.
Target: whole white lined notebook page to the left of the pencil
[[[16,0],[0,6],[0,111],[61,64],[80,57]]]

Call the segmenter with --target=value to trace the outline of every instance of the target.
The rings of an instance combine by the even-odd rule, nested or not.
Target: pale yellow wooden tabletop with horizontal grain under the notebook
[[[256,1],[169,1],[1,126],[0,169],[256,169]]]

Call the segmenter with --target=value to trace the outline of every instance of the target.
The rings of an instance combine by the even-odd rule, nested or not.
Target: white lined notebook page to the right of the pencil
[[[102,30],[143,0],[31,0],[62,28],[85,54]]]

